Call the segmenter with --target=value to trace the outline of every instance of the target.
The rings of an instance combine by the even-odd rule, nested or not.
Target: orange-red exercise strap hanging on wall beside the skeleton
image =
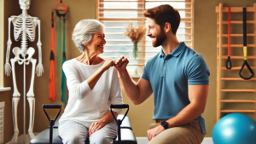
[[[51,12],[51,43],[50,43],[50,67],[49,67],[49,101],[55,101],[55,35],[54,35],[54,11]]]

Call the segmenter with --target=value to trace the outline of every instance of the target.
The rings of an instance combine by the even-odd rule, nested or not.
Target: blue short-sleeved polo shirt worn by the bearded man
[[[188,85],[209,84],[210,72],[204,58],[180,43],[171,54],[163,50],[148,60],[142,78],[148,80],[154,92],[153,119],[169,119],[189,105]],[[195,118],[206,134],[205,120]]]

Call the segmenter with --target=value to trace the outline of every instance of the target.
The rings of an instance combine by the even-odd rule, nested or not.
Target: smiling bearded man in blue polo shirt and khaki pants
[[[143,75],[132,81],[124,56],[114,60],[126,95],[135,105],[154,93],[155,124],[148,130],[149,144],[200,144],[206,134],[201,117],[207,103],[210,72],[202,55],[177,40],[180,14],[170,5],[146,10],[148,37],[160,52],[148,60]]]

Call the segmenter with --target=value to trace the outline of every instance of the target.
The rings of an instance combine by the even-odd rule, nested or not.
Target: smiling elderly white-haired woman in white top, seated
[[[113,143],[117,126],[110,104],[122,104],[119,77],[113,60],[99,57],[104,51],[104,26],[98,20],[80,20],[73,30],[73,42],[83,53],[67,60],[67,107],[60,118],[59,134],[63,143]],[[113,109],[114,115],[121,110]]]

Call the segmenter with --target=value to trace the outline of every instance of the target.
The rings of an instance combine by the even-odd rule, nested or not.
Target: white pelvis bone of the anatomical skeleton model
[[[35,49],[32,47],[29,47],[28,49],[20,49],[19,47],[15,47],[13,49],[13,53],[15,55],[15,59],[18,60],[20,65],[23,64],[23,62],[28,65],[29,61],[32,59],[32,55],[35,53]]]

